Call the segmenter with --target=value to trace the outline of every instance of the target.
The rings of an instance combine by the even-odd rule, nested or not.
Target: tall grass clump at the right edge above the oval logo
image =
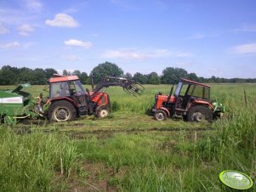
[[[253,108],[236,111],[217,126],[221,167],[246,172],[255,180],[256,111]]]

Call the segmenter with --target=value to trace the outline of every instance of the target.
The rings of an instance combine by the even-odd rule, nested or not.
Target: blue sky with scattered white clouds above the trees
[[[255,0],[0,0],[0,67],[256,78]]]

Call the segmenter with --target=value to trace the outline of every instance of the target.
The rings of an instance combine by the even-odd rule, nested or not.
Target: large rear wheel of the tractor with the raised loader
[[[51,121],[73,121],[76,115],[75,107],[64,100],[54,102],[48,110],[48,118]]]

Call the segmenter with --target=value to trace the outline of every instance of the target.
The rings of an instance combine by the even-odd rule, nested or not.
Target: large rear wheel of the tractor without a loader
[[[213,121],[213,112],[212,110],[208,109],[208,107],[203,105],[196,105],[191,107],[187,114],[187,120],[188,121],[196,121],[196,122],[202,122],[202,121]]]

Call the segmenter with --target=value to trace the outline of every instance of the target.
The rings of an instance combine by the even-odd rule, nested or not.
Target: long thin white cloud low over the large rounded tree
[[[137,59],[145,60],[151,58],[162,58],[162,57],[191,57],[189,53],[176,53],[168,49],[109,49],[102,53],[105,58],[119,58],[119,59]]]

